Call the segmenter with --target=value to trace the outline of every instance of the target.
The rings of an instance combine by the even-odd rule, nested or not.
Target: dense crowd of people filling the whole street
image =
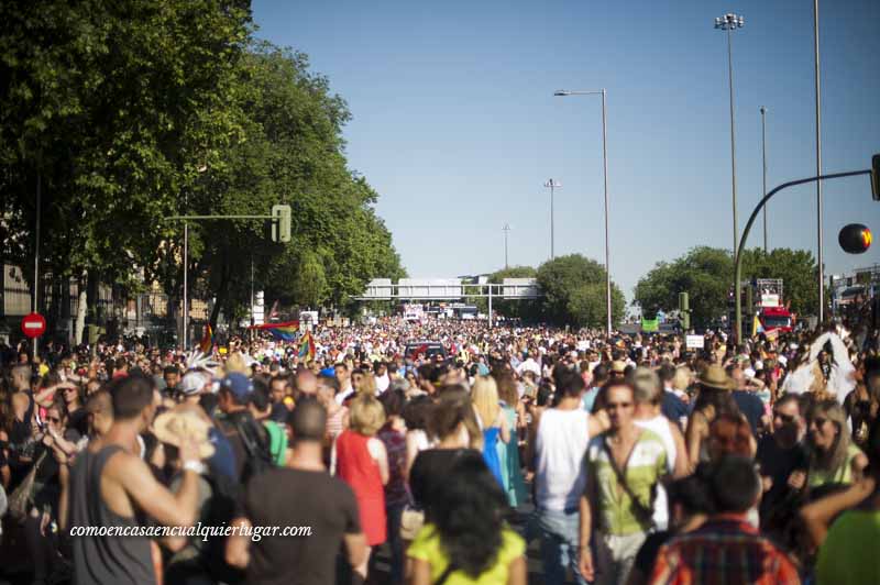
[[[0,347],[0,571],[880,583],[876,330],[694,349],[389,318],[311,339]]]

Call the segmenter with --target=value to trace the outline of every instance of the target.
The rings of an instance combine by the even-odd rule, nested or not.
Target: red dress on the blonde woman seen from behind
[[[385,490],[378,464],[366,448],[371,437],[344,430],[337,438],[337,475],[349,484],[358,499],[361,530],[366,543],[376,547],[387,538],[385,522]]]

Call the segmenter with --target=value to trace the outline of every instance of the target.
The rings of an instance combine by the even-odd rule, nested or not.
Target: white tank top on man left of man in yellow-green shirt
[[[590,413],[548,408],[538,422],[536,498],[539,509],[576,510],[586,487],[584,454],[590,443]]]

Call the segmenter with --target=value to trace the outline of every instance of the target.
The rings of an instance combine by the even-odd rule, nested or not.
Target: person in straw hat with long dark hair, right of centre
[[[700,391],[684,434],[692,467],[701,461],[708,461],[706,441],[712,421],[722,413],[740,416],[732,395],[733,380],[724,367],[717,364],[707,366],[697,378],[697,386]]]

